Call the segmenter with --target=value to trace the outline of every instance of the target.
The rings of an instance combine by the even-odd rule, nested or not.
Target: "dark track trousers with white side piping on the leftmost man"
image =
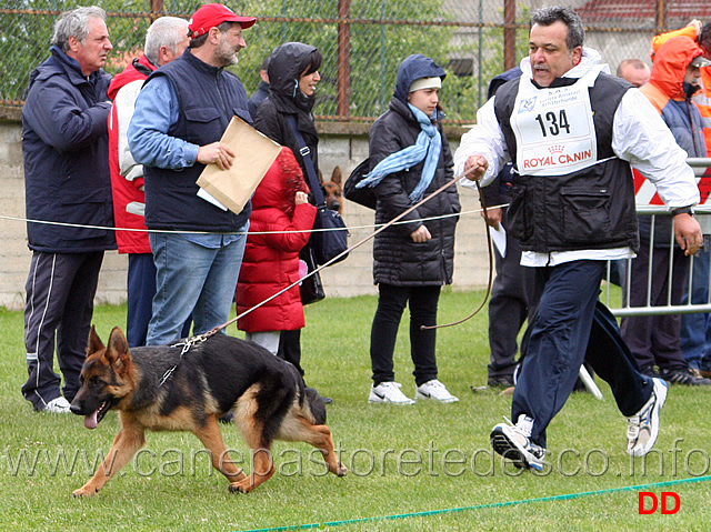
[[[36,410],[60,397],[61,380],[53,369],[54,335],[64,398],[71,401],[79,391],[102,261],[103,251],[32,253],[24,308],[28,380],[22,394]]]

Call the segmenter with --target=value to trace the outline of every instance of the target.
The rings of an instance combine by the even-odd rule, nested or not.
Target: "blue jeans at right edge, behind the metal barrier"
[[[693,269],[690,274],[692,275],[691,302],[707,303],[709,301],[709,250],[705,245],[693,258]],[[684,289],[687,287],[684,285]],[[684,293],[682,302],[685,304],[688,301],[689,293]],[[689,365],[695,369],[702,367],[704,358],[711,357],[711,314],[682,314],[681,351]]]

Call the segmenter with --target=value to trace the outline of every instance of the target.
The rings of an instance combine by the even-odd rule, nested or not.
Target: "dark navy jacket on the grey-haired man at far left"
[[[111,228],[111,77],[99,70],[87,78],[59,48],[50,51],[30,74],[22,108],[27,218]],[[27,233],[30,249],[48,253],[116,249],[112,230],[28,222]]]

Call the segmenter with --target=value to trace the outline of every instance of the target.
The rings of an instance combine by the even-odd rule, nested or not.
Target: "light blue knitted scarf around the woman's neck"
[[[420,182],[410,194],[410,200],[413,202],[422,199],[422,194],[432,182],[437,171],[442,149],[442,138],[437,127],[431,122],[430,117],[410,103],[408,103],[408,107],[420,123],[421,131],[417,142],[384,158],[375,164],[375,168],[368,175],[361,179],[356,188],[375,187],[385,175],[414,167],[424,159]]]

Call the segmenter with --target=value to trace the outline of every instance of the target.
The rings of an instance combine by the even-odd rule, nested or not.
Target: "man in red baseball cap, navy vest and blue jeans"
[[[232,165],[234,153],[220,142],[232,117],[251,122],[244,87],[224,68],[237,64],[242,30],[256,20],[221,3],[202,6],[188,26],[189,48],[153,72],[136,100],[128,140],[144,169],[157,269],[148,345],[180,338],[191,313],[193,334],[229,319],[251,204],[239,214],[223,210],[198,195],[196,181],[206,164]]]

